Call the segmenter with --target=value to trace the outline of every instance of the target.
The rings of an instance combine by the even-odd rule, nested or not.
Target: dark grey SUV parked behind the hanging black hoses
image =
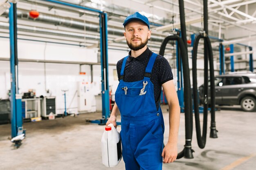
[[[204,85],[199,87],[200,103],[203,103]],[[210,82],[209,82],[210,89]],[[234,72],[215,77],[215,95],[218,105],[241,105],[248,112],[256,110],[256,74]],[[211,101],[209,90],[209,102]]]

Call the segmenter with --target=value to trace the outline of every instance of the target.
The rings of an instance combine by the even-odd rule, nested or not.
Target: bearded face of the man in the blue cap
[[[148,43],[151,31],[148,26],[141,21],[131,21],[125,26],[124,37],[131,50],[138,51]]]

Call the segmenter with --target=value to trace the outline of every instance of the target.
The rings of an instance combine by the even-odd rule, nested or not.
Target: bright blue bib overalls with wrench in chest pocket
[[[155,105],[154,86],[150,81],[156,57],[155,53],[150,56],[144,79],[137,82],[123,81],[128,56],[122,64],[115,102],[121,113],[120,135],[126,170],[162,170],[164,119],[160,106],[157,110]]]

